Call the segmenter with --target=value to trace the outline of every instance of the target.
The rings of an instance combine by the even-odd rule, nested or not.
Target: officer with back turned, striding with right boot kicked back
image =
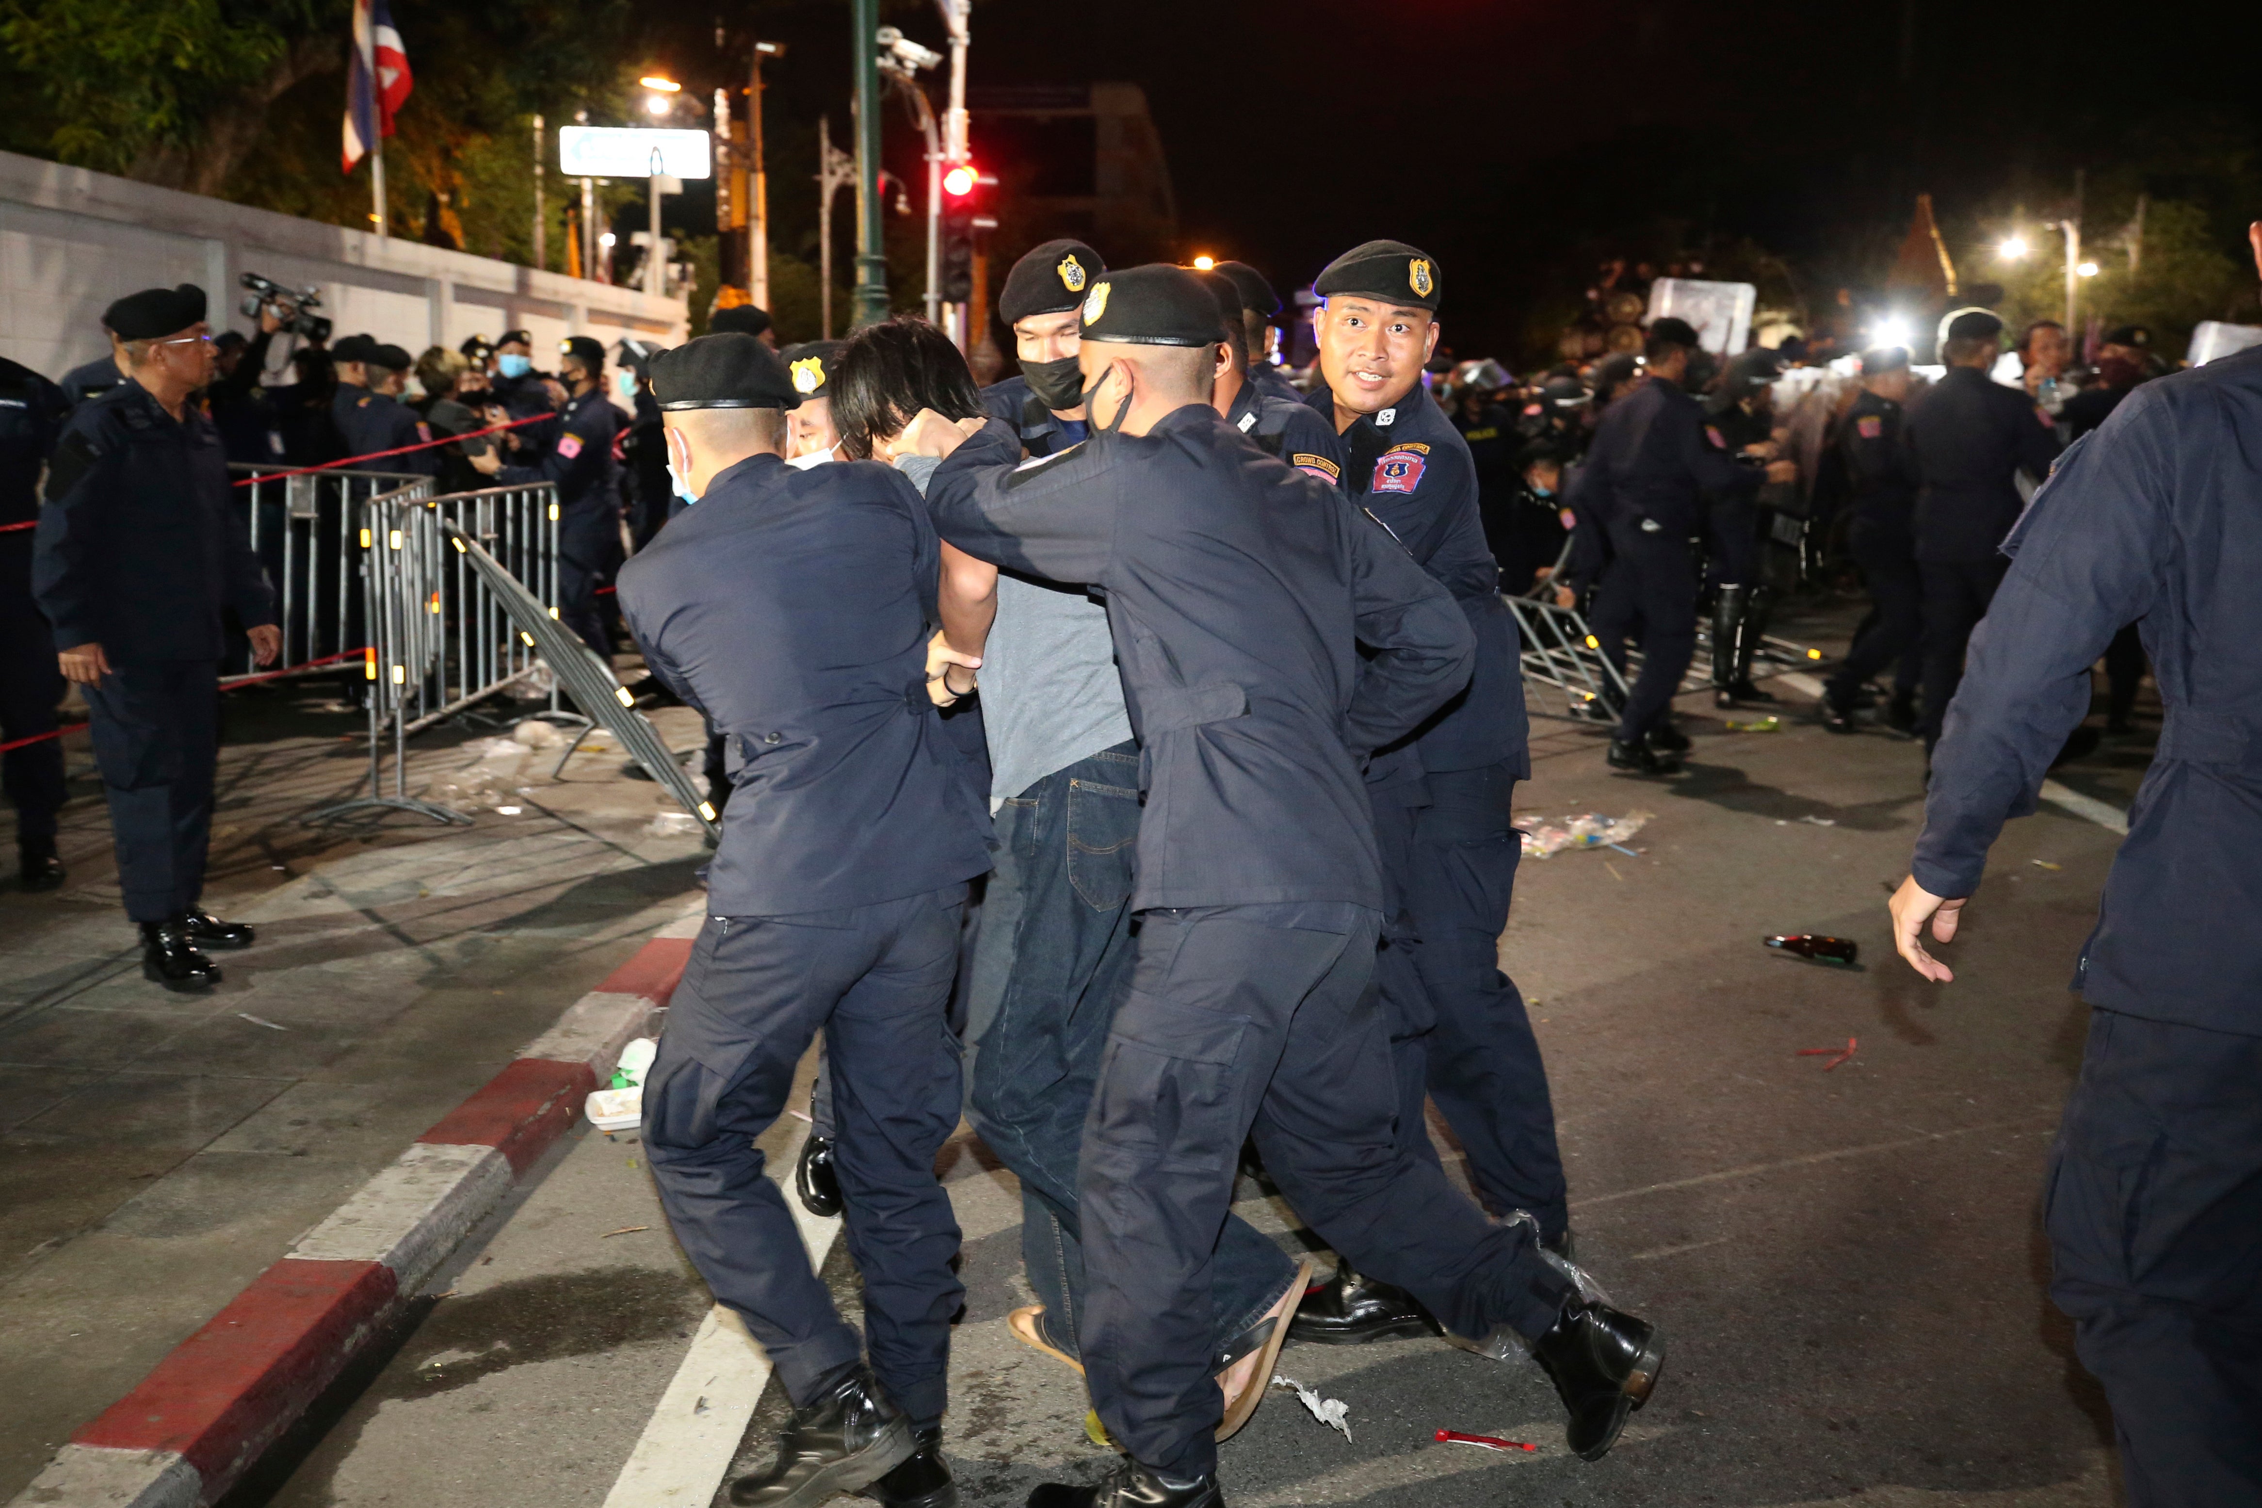
[[[968,439],[921,414],[907,434],[948,457],[927,486],[946,540],[1106,592],[1140,744],[1138,961],[1079,1164],[1086,1379],[1129,1458],[1031,1508],[1224,1501],[1208,1264],[1251,1133],[1346,1259],[1464,1336],[1534,1336],[1577,1451],[1611,1447],[1663,1361],[1649,1325],[1577,1298],[1529,1223],[1488,1221],[1398,1139],[1359,760],[1464,685],[1475,635],[1371,513],[1210,407],[1221,339],[1188,269],[1106,274],[1079,346],[1090,441],[1022,463],[1000,421]]]

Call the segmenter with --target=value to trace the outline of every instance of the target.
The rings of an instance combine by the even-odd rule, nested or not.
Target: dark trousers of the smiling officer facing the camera
[[[1384,866],[1402,864],[1396,884],[1430,1013],[1418,1033],[1391,1031],[1391,1051],[1411,1060],[1398,1076],[1398,1126],[1418,1155],[1436,1160],[1423,1115],[1427,1090],[1468,1153],[1477,1198],[1502,1216],[1529,1210],[1540,1234],[1556,1237],[1570,1212],[1547,1065],[1522,990],[1500,972],[1500,934],[1522,859],[1522,834],[1509,825],[1516,773],[1502,762],[1432,771],[1423,785],[1430,805],[1407,812],[1405,846],[1382,843]]]

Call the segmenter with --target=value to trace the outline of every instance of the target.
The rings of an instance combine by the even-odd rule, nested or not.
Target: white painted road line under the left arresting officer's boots
[[[792,1178],[805,1137],[803,1130],[792,1151],[778,1158],[780,1185]],[[817,1219],[801,1207],[792,1189],[785,1191],[785,1207],[794,1212],[801,1241],[810,1248],[810,1266],[821,1271],[839,1234],[839,1219]],[[760,1341],[746,1334],[744,1320],[715,1305],[692,1336],[692,1350],[676,1368],[674,1381],[661,1395],[661,1406],[651,1411],[651,1422],[645,1424],[629,1463],[606,1492],[604,1508],[713,1503],[767,1384],[769,1357],[762,1354]]]

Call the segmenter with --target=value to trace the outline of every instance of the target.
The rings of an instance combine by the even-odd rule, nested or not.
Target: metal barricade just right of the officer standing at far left
[[[231,463],[251,552],[276,595],[283,653],[299,674],[353,658],[369,644],[357,529],[380,493],[428,495],[432,482],[382,470],[285,470]],[[222,685],[260,674],[249,651],[222,665]]]

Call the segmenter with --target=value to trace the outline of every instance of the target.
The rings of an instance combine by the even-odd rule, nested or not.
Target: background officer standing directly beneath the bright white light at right
[[[1887,721],[1916,726],[1916,671],[1923,665],[1923,579],[1916,570],[1916,452],[1909,450],[1909,353],[1900,346],[1862,353],[1862,393],[1837,423],[1832,445],[1844,466],[1853,520],[1846,549],[1862,567],[1877,606],[1830,681],[1823,683],[1823,726],[1853,733],[1862,683],[1898,662]]]

